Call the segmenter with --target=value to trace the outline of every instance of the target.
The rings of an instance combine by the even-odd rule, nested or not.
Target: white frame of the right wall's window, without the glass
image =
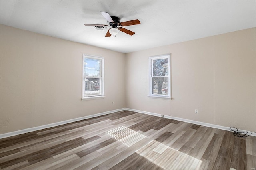
[[[166,59],[168,58],[168,76],[153,76],[153,61],[157,59]],[[166,77],[168,80],[168,94],[160,95],[153,94],[153,78],[155,77]],[[148,97],[158,98],[158,99],[172,99],[171,97],[171,54],[158,55],[154,57],[149,57],[149,95]]]

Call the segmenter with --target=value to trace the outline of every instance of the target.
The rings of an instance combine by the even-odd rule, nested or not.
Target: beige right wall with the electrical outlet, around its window
[[[148,57],[166,53],[173,99],[149,98]],[[126,82],[127,108],[255,131],[256,28],[128,53]]]

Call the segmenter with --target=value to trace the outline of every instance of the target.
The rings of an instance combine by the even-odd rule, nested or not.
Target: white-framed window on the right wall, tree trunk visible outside
[[[149,97],[171,99],[170,54],[149,57]]]

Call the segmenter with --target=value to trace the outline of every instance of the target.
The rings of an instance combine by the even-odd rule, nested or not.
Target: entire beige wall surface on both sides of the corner
[[[128,54],[4,25],[0,36],[1,134],[124,107],[256,129],[256,28]],[[82,53],[105,57],[104,99],[81,101]],[[166,53],[173,99],[148,98],[148,57]]]

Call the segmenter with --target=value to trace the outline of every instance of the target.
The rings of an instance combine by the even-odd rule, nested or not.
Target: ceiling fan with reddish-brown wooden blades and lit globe
[[[105,24],[84,24],[85,26],[94,26],[97,30],[104,30],[105,27],[110,26],[111,28],[108,29],[108,32],[105,37],[110,37],[110,36],[116,36],[119,31],[122,31],[126,34],[133,35],[135,32],[132,32],[130,30],[127,30],[126,28],[123,28],[123,26],[131,26],[131,25],[137,25],[140,24],[140,21],[137,20],[130,20],[130,21],[125,21],[125,22],[120,22],[120,18],[116,16],[110,16],[108,12],[100,12],[104,18],[108,21],[109,25]]]

